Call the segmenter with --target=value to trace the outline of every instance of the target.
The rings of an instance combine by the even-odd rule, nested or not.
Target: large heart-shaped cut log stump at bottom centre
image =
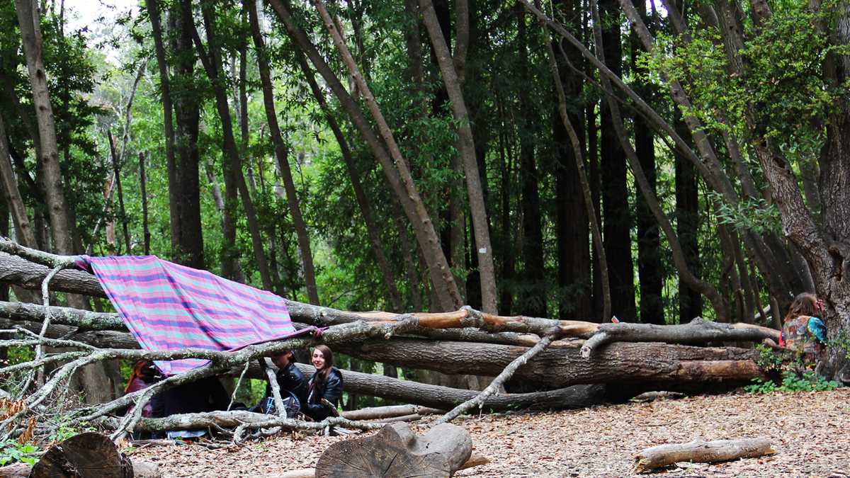
[[[417,436],[407,424],[388,424],[376,435],[338,441],[316,464],[316,478],[451,476],[472,455],[467,430],[439,424]]]

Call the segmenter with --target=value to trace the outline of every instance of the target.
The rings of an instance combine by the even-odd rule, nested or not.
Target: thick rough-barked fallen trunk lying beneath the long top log
[[[334,350],[397,367],[494,377],[525,347],[420,339],[339,343]],[[609,344],[589,359],[575,349],[547,349],[520,367],[514,378],[550,388],[574,384],[748,382],[762,378],[756,350],[658,343]]]

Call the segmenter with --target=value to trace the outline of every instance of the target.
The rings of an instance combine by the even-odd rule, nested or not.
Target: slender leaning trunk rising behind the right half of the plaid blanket
[[[188,3],[188,2],[187,2]],[[185,9],[184,9],[185,11]],[[201,12],[204,18],[204,27],[207,30],[208,53],[201,43],[201,37],[198,36],[194,22],[191,25],[191,35],[195,40],[195,47],[198,51],[198,56],[201,58],[201,63],[207,71],[207,77],[212,81],[212,88],[216,97],[216,108],[218,109],[218,117],[221,120],[222,131],[224,134],[223,152],[224,160],[224,176],[235,179],[235,187],[242,199],[242,208],[245,210],[245,216],[248,222],[248,230],[251,233],[251,241],[254,248],[254,259],[257,261],[257,269],[260,273],[260,279],[263,282],[263,288],[266,290],[272,289],[271,275],[269,274],[269,263],[266,260],[265,251],[263,249],[263,236],[259,230],[257,221],[257,212],[254,210],[251,193],[245,182],[245,176],[242,174],[241,159],[239,151],[236,149],[236,141],[233,136],[233,124],[230,121],[230,108],[227,100],[227,92],[224,89],[224,74],[221,67],[221,59],[219,55],[218,39],[215,33],[214,19],[210,6],[207,3],[201,4]],[[225,199],[225,208],[227,200]]]

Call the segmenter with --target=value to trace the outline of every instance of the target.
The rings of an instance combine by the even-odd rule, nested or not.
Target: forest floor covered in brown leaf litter
[[[677,464],[655,475],[850,477],[850,389],[660,399],[552,413],[500,413],[456,419],[473,452],[490,464],[457,476],[628,476],[643,448],[701,438],[766,437],[778,452],[720,464]],[[435,419],[435,418],[430,418]],[[414,429],[427,426],[419,422]],[[352,437],[349,435],[348,437]],[[165,476],[267,476],[310,468],[344,437],[292,434],[210,450],[166,445],[132,450]]]

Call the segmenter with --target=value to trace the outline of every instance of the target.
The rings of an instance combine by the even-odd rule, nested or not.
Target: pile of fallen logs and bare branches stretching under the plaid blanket
[[[268,367],[265,373],[263,367],[258,367],[259,360],[282,350],[314,344],[328,344],[350,356],[399,367],[496,377],[485,390],[477,392],[343,371],[345,390],[450,410],[437,421],[444,423],[476,408],[581,407],[604,400],[612,390],[621,396],[632,396],[646,390],[693,390],[712,384],[748,382],[762,377],[757,351],[706,344],[761,342],[776,340],[779,335],[767,327],[700,319],[672,326],[598,324],[496,316],[470,307],[445,313],[350,312],[287,300],[296,327],[326,327],[324,332],[226,352],[140,350],[117,314],[49,304],[51,291],[105,297],[93,275],[70,269],[75,259],[23,248],[0,238],[0,282],[42,291],[42,304],[0,302],[0,329],[14,333],[14,338],[0,340],[0,347],[35,350],[31,360],[0,367],[0,379],[6,378],[0,382],[0,395],[18,404],[12,413],[0,415],[0,439],[25,433],[30,418],[37,418],[36,428],[30,432],[38,435],[49,435],[63,426],[98,424],[111,430],[114,437],[136,430],[211,428],[234,441],[279,430],[327,430],[337,425],[359,430],[381,427],[380,422],[343,417],[314,423],[244,411],[141,417],[144,404],[164,390],[224,374],[273,377]],[[45,347],[72,349],[46,354]],[[88,364],[114,359],[185,358],[208,362],[105,403],[66,406],[63,410],[55,406],[66,403],[65,385],[80,367]],[[54,367],[51,373],[43,372],[46,366]],[[299,367],[305,373],[312,372],[312,367]],[[11,377],[17,378],[14,384]],[[500,393],[511,378],[544,391]],[[270,382],[275,400],[280,400],[275,380]],[[133,406],[133,413],[116,415],[129,406]]]

